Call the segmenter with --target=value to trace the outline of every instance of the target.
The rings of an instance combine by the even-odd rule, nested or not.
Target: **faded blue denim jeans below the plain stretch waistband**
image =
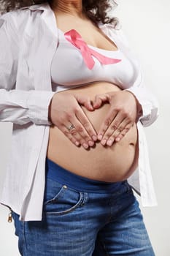
[[[82,192],[46,179],[42,221],[12,212],[23,256],[154,256],[134,192]]]

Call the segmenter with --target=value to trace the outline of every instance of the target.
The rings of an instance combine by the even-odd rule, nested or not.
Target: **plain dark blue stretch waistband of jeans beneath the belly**
[[[126,181],[105,182],[79,176],[46,158],[46,177],[82,192],[116,192]]]

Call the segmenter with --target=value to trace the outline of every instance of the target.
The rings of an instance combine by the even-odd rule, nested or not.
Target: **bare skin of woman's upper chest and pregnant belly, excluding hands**
[[[117,50],[117,46],[89,20],[79,20],[79,18],[75,19],[72,16],[66,16],[63,19],[62,16],[58,15],[57,23],[58,28],[63,32],[76,29],[88,45],[105,50]],[[120,91],[120,89],[112,83],[96,82],[59,93],[83,94],[93,100],[96,94],[104,94],[109,91]],[[84,107],[82,109],[98,132],[101,122],[109,110],[109,104],[104,104],[92,112]],[[82,146],[74,146],[58,127],[50,127],[47,158],[77,175],[98,181],[123,181],[136,170],[138,157],[139,145],[136,124],[119,142],[113,143],[112,146],[102,146],[97,141],[95,146],[88,150]]]

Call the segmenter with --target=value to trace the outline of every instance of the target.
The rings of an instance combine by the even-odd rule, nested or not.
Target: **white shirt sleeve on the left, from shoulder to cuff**
[[[0,17],[0,121],[50,125],[48,107],[55,92],[15,89],[19,31],[12,15]],[[24,81],[23,81],[24,83]]]

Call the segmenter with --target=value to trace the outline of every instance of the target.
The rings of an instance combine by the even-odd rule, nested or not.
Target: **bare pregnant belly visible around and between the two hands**
[[[107,91],[119,91],[111,83],[93,83],[79,89],[62,91],[62,94],[83,94],[93,99],[96,94]],[[107,115],[109,104],[90,112],[82,107],[93,127],[98,132],[101,122]],[[77,147],[57,128],[50,127],[47,157],[72,173],[98,181],[123,181],[136,170],[139,146],[136,124],[126,133],[122,140],[111,147],[102,146],[98,141],[93,148],[85,150]]]

